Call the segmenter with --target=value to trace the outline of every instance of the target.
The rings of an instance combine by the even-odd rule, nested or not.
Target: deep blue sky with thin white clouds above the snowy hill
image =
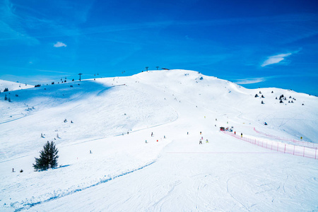
[[[156,66],[318,95],[318,1],[0,0],[0,78]]]

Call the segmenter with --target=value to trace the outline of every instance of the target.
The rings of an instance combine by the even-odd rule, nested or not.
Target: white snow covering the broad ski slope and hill
[[[259,91],[265,98],[254,98]],[[317,97],[186,70],[33,86],[10,97],[0,94],[0,211],[318,210],[318,160],[219,130],[316,145]],[[34,172],[46,141],[57,143],[60,166]]]

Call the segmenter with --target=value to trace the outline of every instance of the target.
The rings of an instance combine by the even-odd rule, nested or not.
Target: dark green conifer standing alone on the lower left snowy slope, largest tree
[[[51,143],[47,141],[45,146],[43,146],[43,150],[40,151],[40,158],[35,158],[35,164],[33,164],[34,169],[38,171],[57,167],[57,158],[59,158],[57,153],[59,153],[59,151],[55,147],[55,143],[53,141],[51,141]]]

